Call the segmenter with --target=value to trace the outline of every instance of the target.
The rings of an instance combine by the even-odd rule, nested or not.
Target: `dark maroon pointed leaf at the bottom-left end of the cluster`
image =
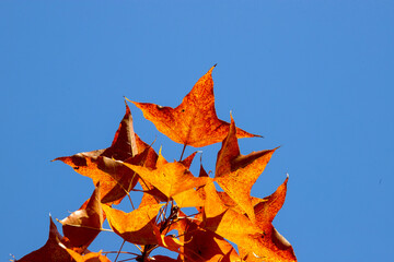
[[[61,242],[61,235],[56,228],[51,217],[49,216],[49,237],[47,242],[36,251],[33,251],[18,262],[72,262],[71,255],[66,251],[65,245]],[[16,262],[15,261],[15,262]]]

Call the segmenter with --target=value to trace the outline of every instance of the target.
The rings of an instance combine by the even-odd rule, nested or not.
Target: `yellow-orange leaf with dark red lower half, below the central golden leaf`
[[[130,213],[112,209],[103,204],[111,228],[126,241],[137,245],[157,245],[158,238],[154,233],[157,217],[161,204],[142,206]]]

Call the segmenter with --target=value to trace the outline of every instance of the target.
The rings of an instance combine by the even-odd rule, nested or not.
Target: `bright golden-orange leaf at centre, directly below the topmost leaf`
[[[136,171],[143,180],[153,184],[167,198],[200,187],[209,180],[209,178],[194,177],[193,174],[178,162],[163,164],[153,170],[128,163],[124,163],[124,165]]]

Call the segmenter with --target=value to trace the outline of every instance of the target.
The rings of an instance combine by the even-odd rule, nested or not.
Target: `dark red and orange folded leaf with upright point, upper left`
[[[118,204],[136,186],[138,176],[116,160],[129,160],[132,164],[144,165],[144,162],[151,162],[151,158],[155,162],[155,153],[152,151],[134,132],[131,112],[126,104],[126,114],[111,147],[58,157],[54,160],[61,160],[82,176],[92,178],[94,184],[100,182],[103,203]],[[146,158],[139,155],[143,155]]]

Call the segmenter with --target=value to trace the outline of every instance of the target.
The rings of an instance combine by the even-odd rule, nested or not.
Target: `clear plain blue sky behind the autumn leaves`
[[[290,174],[274,225],[299,261],[393,261],[394,2],[384,0],[0,1],[0,261],[42,247],[48,214],[65,218],[93,190],[50,159],[107,147],[123,96],[175,107],[215,63],[219,118],[232,110],[265,136],[240,140],[241,152],[281,145],[253,195]],[[136,132],[178,158],[182,145],[130,108]],[[206,169],[219,148],[202,148]],[[90,249],[117,250],[114,235]]]

